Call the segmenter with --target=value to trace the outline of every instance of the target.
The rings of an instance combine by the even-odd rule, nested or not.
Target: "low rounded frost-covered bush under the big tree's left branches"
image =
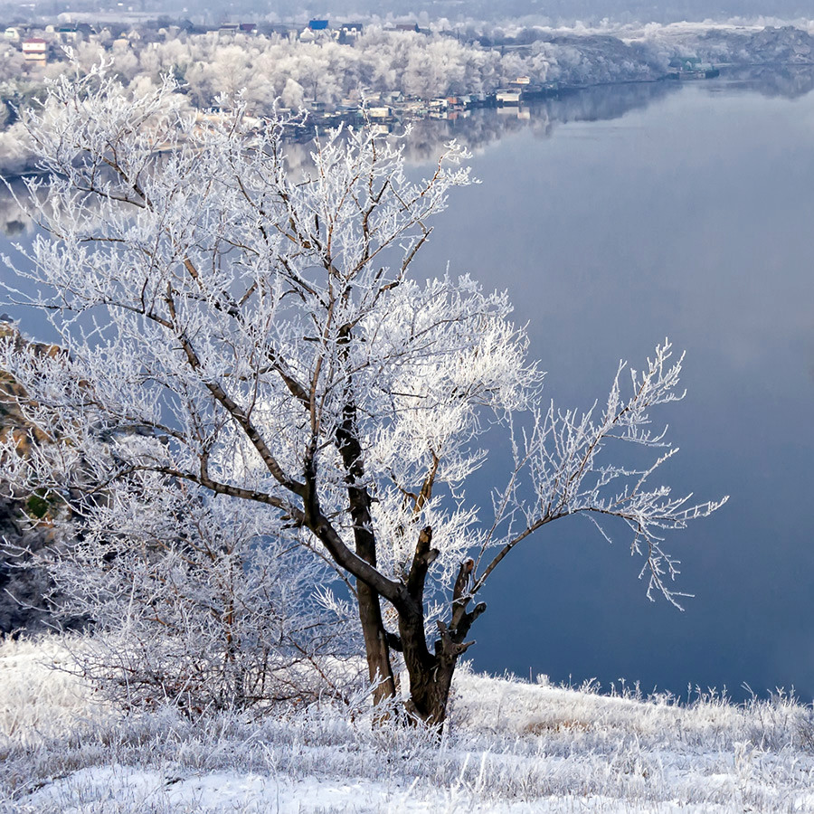
[[[197,714],[343,695],[353,626],[321,561],[232,498],[155,476],[128,485],[40,558],[62,617],[88,620],[72,655],[102,696]]]

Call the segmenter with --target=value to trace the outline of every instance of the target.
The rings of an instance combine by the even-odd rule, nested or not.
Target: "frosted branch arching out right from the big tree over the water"
[[[533,430],[525,436],[522,450],[515,451],[516,473],[530,471],[538,502],[522,505],[523,530],[512,537],[498,558],[525,537],[530,531],[559,517],[585,514],[609,540],[602,521],[611,517],[623,520],[633,532],[631,550],[645,555],[641,575],[648,574],[648,597],[661,592],[677,607],[677,597],[686,594],[674,592],[665,582],[677,575],[678,561],[663,548],[663,532],[685,528],[690,520],[709,516],[723,506],[727,498],[691,505],[692,495],[672,497],[669,487],[650,487],[650,476],[678,450],[666,440],[667,428],[654,432],[649,429],[651,408],[667,402],[680,401],[684,393],[677,393],[682,355],[670,364],[672,348],[667,340],[656,347],[656,355],[648,359],[645,370],[630,369],[630,394],[622,395],[620,376],[627,365],[620,363],[613,380],[608,402],[599,417],[596,405],[588,412],[560,410],[552,402],[545,412],[535,413]],[[639,444],[664,450],[646,469],[606,462],[603,450],[613,441]],[[618,453],[617,453],[618,454]],[[511,516],[521,504],[516,499],[516,475],[509,489],[497,494],[495,506],[498,515]],[[484,572],[485,580],[492,564]]]

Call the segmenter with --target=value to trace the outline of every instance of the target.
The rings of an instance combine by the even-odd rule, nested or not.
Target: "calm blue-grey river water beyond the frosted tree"
[[[449,261],[509,289],[563,405],[601,399],[620,358],[640,366],[665,336],[686,348],[686,401],[662,413],[681,452],[664,475],[731,496],[672,544],[696,594],[683,613],[646,599],[622,530],[610,546],[579,518],[548,526],[494,575],[476,667],[814,695],[812,84],[595,89],[527,119],[416,128],[414,158],[458,136],[482,182],[452,195],[418,273]]]

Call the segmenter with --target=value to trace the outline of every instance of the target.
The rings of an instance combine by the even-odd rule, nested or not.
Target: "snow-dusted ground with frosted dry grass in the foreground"
[[[262,722],[117,716],[0,644],[0,812],[814,812],[814,714],[779,696],[600,696],[459,675],[442,742],[325,705]]]

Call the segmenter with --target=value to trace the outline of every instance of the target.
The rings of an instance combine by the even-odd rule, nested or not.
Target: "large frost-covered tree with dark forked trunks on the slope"
[[[18,273],[44,292],[34,305],[66,354],[0,349],[52,440],[26,459],[7,444],[5,478],[76,501],[144,473],[260,506],[269,535],[296,533],[355,578],[375,697],[396,694],[397,651],[408,710],[433,724],[486,610],[473,602],[553,520],[627,525],[648,593],[675,602],[663,532],[720,503],[649,486],[674,451],[648,429],[651,408],[680,398],[669,345],[627,393],[620,365],[601,411],[545,406],[506,294],[409,273],[450,187],[469,182],[459,147],[416,184],[398,150],[332,132],[295,176],[290,122],[195,119],[173,90],[131,98],[95,71],[56,80],[26,120],[49,174],[28,182],[46,234]],[[495,424],[514,467],[484,522],[463,487]],[[609,442],[659,451],[629,469],[603,461]],[[82,511],[92,522],[92,502]]]

